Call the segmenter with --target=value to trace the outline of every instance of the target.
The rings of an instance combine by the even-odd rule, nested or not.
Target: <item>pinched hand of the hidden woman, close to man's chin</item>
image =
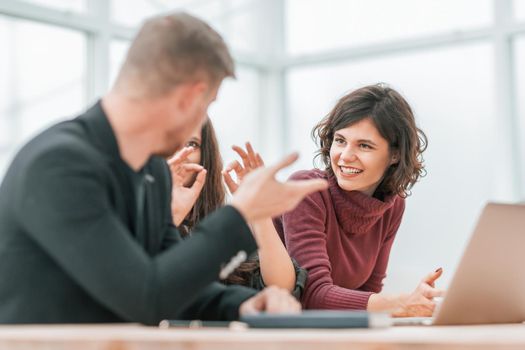
[[[206,169],[202,165],[186,163],[193,147],[184,147],[168,160],[171,172],[171,213],[176,226],[180,225],[195,205],[206,181]],[[184,186],[188,173],[197,174],[191,187]]]

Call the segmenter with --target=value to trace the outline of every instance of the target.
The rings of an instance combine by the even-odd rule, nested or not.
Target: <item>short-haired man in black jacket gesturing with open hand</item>
[[[0,187],[1,323],[157,324],[299,309],[278,288],[256,294],[214,282],[238,252],[256,249],[247,223],[326,187],[276,181],[295,156],[247,176],[191,238],[181,241],[173,225],[179,192],[164,157],[201,127],[233,71],[204,22],[150,19],[111,91],[20,150]]]

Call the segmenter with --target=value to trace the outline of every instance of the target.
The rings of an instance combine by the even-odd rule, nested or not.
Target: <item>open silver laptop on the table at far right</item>
[[[483,209],[434,317],[395,318],[395,325],[467,325],[525,321],[525,205]]]

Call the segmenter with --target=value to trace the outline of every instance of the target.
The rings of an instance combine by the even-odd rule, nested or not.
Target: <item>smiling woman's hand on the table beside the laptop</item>
[[[445,292],[436,289],[435,281],[441,277],[443,269],[426,276],[416,287],[416,289],[401,299],[401,306],[392,312],[393,317],[430,317],[436,308],[435,297],[442,297]],[[404,299],[404,300],[403,300]]]

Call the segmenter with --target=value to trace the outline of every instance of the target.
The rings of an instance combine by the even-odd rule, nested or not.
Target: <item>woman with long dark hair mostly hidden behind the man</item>
[[[251,145],[248,143],[246,147],[246,152],[237,146],[234,146],[233,149],[242,157],[247,157],[245,159],[251,162],[253,168],[262,166],[261,157],[253,152]],[[235,191],[237,183],[228,175],[228,169],[221,173],[223,164],[219,144],[209,118],[202,129],[192,135],[175,157],[181,155],[186,158],[186,162],[182,167],[171,167],[173,181],[187,188],[200,188],[200,192],[188,191],[188,195],[199,193],[197,198],[183,198],[185,194],[181,194],[179,190],[177,193],[179,198],[174,198],[172,202],[174,222],[181,235],[185,237],[191,234],[192,229],[204,217],[224,205],[226,192],[223,185],[223,174],[230,191]],[[178,164],[179,162],[168,161],[168,163]],[[247,171],[250,170],[248,166]],[[242,174],[238,173],[238,175],[238,181],[242,181]],[[188,207],[188,203],[194,204]],[[244,285],[258,290],[275,285],[289,290],[294,296],[300,298],[306,283],[306,271],[290,258],[275,232],[271,219],[253,223],[252,230],[257,240],[258,254],[241,263],[222,282]]]

